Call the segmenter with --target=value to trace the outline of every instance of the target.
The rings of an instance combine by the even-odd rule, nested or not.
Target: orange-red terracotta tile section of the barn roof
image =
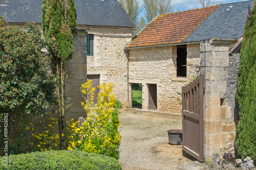
[[[158,15],[125,48],[180,43],[219,6]]]

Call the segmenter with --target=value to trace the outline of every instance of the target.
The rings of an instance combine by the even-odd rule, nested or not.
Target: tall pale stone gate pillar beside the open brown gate
[[[204,75],[204,156],[234,153],[236,126],[232,106],[226,102],[230,39],[206,39],[200,44],[200,74]]]

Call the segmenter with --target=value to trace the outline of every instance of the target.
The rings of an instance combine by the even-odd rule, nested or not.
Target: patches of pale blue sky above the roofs
[[[215,0],[214,5],[221,3],[231,3],[238,2],[243,0]],[[139,0],[140,4],[142,4],[143,0]],[[197,0],[172,0],[172,4],[174,6],[174,10],[179,9],[180,11],[186,11],[190,9],[202,8],[202,6],[198,3]]]

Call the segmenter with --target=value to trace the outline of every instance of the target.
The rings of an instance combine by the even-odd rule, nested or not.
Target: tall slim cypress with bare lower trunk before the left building
[[[42,30],[51,39],[48,50],[52,55],[54,74],[58,77],[57,102],[59,113],[60,149],[66,149],[65,81],[66,63],[73,55],[72,31],[76,27],[76,6],[74,0],[43,0]]]

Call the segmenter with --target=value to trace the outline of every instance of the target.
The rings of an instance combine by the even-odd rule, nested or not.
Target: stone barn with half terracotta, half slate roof
[[[158,15],[125,46],[132,84],[142,84],[142,109],[180,113],[181,87],[199,74],[200,41],[243,35],[249,1]]]

